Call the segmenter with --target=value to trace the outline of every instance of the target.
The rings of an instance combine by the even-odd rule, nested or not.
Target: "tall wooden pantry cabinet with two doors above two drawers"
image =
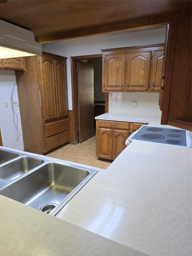
[[[24,149],[44,154],[69,142],[65,57],[42,53],[25,57],[16,71]]]

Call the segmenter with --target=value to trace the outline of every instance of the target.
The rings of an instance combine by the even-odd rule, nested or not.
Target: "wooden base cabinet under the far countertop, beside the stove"
[[[113,161],[126,148],[125,141],[143,123],[96,120],[96,157]]]

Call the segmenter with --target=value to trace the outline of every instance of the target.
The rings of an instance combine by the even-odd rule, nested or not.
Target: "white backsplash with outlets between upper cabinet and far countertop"
[[[159,109],[159,93],[148,92],[110,92],[109,102],[113,101],[113,106],[109,106],[110,113],[144,114],[161,116]],[[137,107],[132,107],[132,102],[137,101]],[[110,105],[110,104],[109,104]]]

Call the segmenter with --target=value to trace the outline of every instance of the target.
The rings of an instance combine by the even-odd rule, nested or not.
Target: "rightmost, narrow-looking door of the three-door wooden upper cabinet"
[[[152,63],[152,87],[151,91],[159,91],[161,88],[162,68],[163,68],[164,51],[155,51]]]

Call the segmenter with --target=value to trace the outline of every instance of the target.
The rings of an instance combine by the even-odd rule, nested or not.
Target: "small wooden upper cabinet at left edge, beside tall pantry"
[[[25,64],[22,57],[0,59],[0,68],[12,70],[25,70]]]

